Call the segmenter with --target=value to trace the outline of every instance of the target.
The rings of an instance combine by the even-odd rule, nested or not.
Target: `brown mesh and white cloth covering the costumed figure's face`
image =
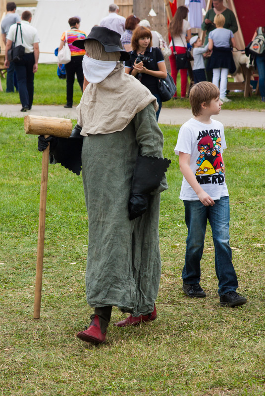
[[[86,55],[83,58],[83,73],[92,84],[101,83],[111,73],[120,58],[120,52],[106,52],[96,40],[85,42]]]

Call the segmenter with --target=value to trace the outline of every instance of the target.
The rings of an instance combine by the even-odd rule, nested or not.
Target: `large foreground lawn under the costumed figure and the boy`
[[[37,80],[37,79],[36,79]],[[201,284],[181,291],[186,226],[173,149],[177,127],[161,126],[171,158],[161,194],[162,276],[158,319],[132,328],[113,309],[105,345],[75,338],[89,323],[85,299],[88,219],[81,176],[50,165],[41,318],[33,319],[42,155],[23,120],[0,118],[0,395],[264,396],[265,132],[226,130],[231,247],[239,308],[218,305],[208,229]]]

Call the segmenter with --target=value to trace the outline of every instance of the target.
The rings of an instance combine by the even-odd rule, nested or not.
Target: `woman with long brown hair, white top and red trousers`
[[[185,18],[188,15],[188,8],[184,5],[181,5],[176,10],[176,13],[169,24],[169,32],[174,41],[175,50],[178,54],[185,53],[187,50],[187,42],[191,39],[191,26]],[[169,55],[169,62],[171,68],[171,76],[176,84],[177,82],[177,74],[178,74],[178,65],[176,64],[175,55],[173,54],[173,44],[172,40],[169,44],[171,48],[171,55]],[[181,78],[181,97],[184,98],[186,96],[187,90],[187,71],[188,69],[180,69],[180,78]],[[177,85],[177,84],[176,84]],[[177,97],[177,91],[173,97]]]

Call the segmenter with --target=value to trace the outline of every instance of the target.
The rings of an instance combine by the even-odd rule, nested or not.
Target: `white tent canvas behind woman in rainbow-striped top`
[[[111,0],[39,0],[31,25],[40,36],[39,63],[56,63],[54,49],[60,44],[63,32],[69,30],[68,19],[81,18],[80,30],[87,35],[108,14]]]

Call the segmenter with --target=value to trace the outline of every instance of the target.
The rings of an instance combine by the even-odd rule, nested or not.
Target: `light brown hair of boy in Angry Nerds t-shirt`
[[[216,99],[219,95],[219,89],[208,81],[201,81],[200,83],[195,84],[191,88],[189,95],[192,114],[195,117],[201,114],[202,103],[205,103],[208,106],[211,100]]]

